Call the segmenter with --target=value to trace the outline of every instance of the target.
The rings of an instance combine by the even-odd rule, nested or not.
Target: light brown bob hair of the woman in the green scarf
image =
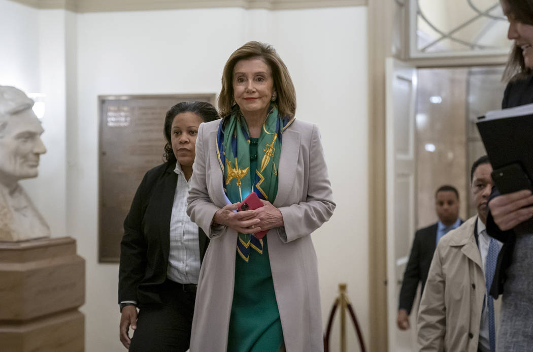
[[[248,42],[234,51],[222,71],[222,90],[220,91],[218,105],[220,116],[231,114],[233,100],[233,68],[240,60],[261,59],[272,71],[274,89],[277,92],[276,104],[281,117],[294,117],[296,113],[296,91],[293,80],[290,78],[287,66],[281,60],[274,48],[265,43]]]

